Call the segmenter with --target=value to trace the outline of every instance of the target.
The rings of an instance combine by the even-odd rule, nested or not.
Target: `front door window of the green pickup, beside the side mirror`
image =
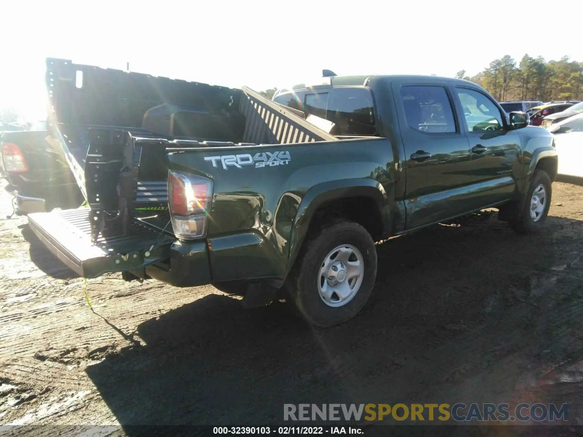
[[[463,116],[470,132],[501,131],[502,115],[498,107],[479,91],[463,88],[457,89]]]

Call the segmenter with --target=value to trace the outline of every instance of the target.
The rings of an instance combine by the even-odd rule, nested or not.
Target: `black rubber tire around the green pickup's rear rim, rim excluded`
[[[318,280],[326,256],[342,245],[358,249],[363,258],[363,274],[356,294],[343,306],[329,306],[320,297]],[[352,319],[363,308],[373,291],[377,276],[377,250],[373,238],[357,223],[335,221],[324,225],[298,255],[286,280],[290,303],[312,325],[330,327]],[[286,299],[287,299],[286,298]]]

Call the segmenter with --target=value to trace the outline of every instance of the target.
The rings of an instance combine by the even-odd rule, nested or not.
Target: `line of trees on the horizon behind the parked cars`
[[[498,101],[583,100],[583,62],[568,56],[547,62],[541,56],[525,54],[517,63],[504,55],[475,76],[461,70],[455,77],[479,84]]]

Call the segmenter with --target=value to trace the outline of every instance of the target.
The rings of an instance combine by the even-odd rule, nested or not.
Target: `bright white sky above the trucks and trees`
[[[583,61],[583,1],[0,0],[0,108],[45,117],[44,59],[262,90],[319,77],[469,75]]]

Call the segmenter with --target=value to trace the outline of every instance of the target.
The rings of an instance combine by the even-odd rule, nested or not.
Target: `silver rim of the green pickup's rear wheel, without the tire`
[[[364,277],[364,259],[359,249],[343,244],[332,249],[318,274],[318,291],[328,306],[343,306],[359,291]]]

